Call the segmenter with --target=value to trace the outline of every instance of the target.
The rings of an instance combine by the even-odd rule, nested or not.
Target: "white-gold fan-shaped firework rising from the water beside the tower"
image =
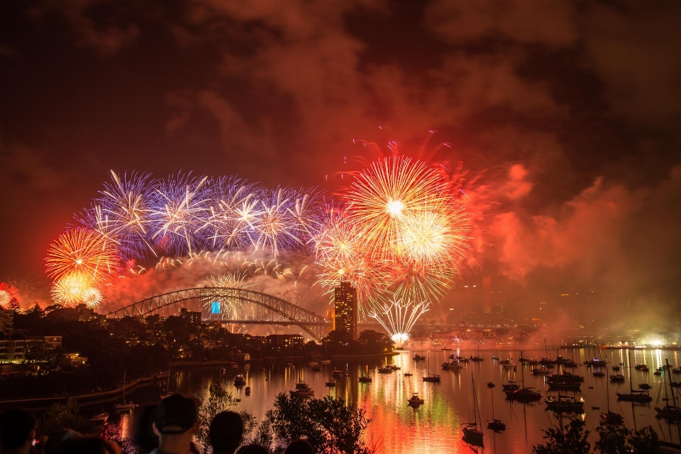
[[[409,332],[414,323],[424,312],[428,311],[430,303],[421,301],[416,303],[411,300],[392,298],[389,301],[375,301],[377,310],[370,314],[372,319],[385,328],[390,338],[397,344],[397,348],[409,340]]]

